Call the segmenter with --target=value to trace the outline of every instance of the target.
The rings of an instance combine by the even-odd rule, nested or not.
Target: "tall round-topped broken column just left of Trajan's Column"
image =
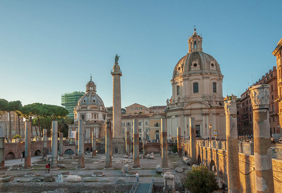
[[[110,120],[106,121],[107,129],[106,129],[106,169],[112,168],[112,128]]]

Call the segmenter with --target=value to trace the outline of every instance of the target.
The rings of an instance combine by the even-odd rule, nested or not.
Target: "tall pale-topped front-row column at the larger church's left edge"
[[[166,119],[161,119],[161,134],[162,134],[162,167],[169,168],[167,163],[167,130],[166,130]]]

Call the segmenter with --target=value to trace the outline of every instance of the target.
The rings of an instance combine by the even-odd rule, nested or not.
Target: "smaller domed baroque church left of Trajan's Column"
[[[69,138],[76,138],[78,131],[78,120],[84,121],[84,139],[92,140],[92,132],[96,133],[97,139],[106,136],[105,124],[107,120],[107,108],[102,99],[96,94],[96,84],[90,81],[86,84],[86,94],[79,99],[74,108],[74,124],[69,125]]]

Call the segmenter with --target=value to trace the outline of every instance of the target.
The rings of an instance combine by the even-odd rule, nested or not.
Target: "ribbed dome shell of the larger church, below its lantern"
[[[195,70],[212,70],[220,72],[219,64],[210,54],[202,51],[187,53],[175,65],[173,76]]]

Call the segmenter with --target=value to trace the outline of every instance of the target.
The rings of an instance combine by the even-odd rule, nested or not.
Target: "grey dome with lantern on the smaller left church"
[[[104,106],[102,99],[96,94],[96,84],[92,81],[92,76],[90,81],[86,84],[86,94],[84,94],[81,99],[78,100],[77,106],[81,105],[99,105]]]

